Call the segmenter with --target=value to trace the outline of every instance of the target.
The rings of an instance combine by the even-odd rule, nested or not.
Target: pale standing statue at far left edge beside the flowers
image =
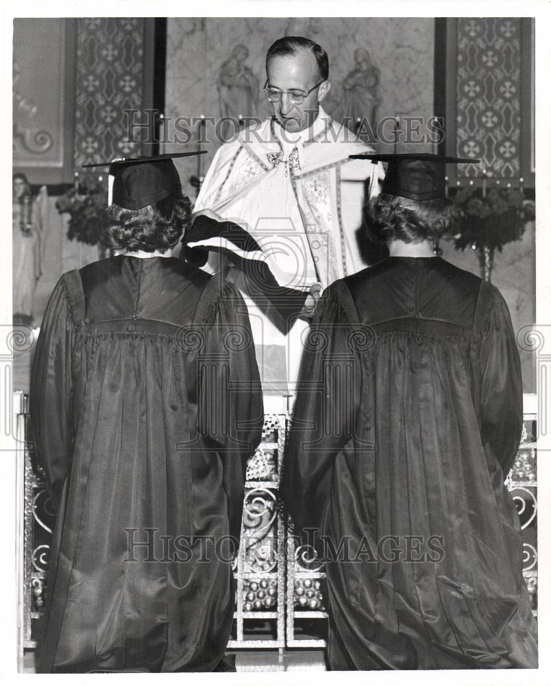
[[[32,325],[36,282],[42,274],[47,189],[34,198],[25,174],[12,177],[12,278],[14,324]]]

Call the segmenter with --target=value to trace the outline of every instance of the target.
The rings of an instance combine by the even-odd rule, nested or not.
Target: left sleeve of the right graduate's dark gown
[[[324,292],[302,355],[280,492],[296,534],[311,542],[306,530],[323,533],[337,453],[354,442],[360,403],[360,368],[348,289],[333,284]]]

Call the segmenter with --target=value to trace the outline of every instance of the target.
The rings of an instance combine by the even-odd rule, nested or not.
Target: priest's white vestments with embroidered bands
[[[380,191],[383,177],[380,164],[349,160],[366,152],[374,151],[321,108],[302,132],[285,132],[274,119],[243,130],[215,155],[194,215],[238,224],[254,246],[243,250],[221,231],[194,236],[188,248],[229,251],[235,263],[264,262],[278,285],[304,292],[313,283],[325,288],[358,272],[366,266],[358,241],[363,204]],[[209,260],[211,269],[216,264]],[[282,333],[267,299],[259,305],[258,289],[238,276],[234,281],[249,307],[265,392],[293,394],[306,324],[297,321],[288,335]],[[274,346],[284,346],[286,354]]]

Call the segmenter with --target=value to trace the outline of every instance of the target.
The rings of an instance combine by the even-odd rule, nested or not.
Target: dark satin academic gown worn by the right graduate
[[[498,290],[391,257],[327,289],[303,363],[282,494],[327,560],[331,668],[537,666],[504,486],[522,385]]]

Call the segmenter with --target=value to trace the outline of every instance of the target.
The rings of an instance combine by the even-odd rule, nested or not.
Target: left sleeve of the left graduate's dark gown
[[[72,337],[73,321],[62,276],[42,320],[30,388],[36,458],[44,469],[49,495],[56,507],[73,451]]]

